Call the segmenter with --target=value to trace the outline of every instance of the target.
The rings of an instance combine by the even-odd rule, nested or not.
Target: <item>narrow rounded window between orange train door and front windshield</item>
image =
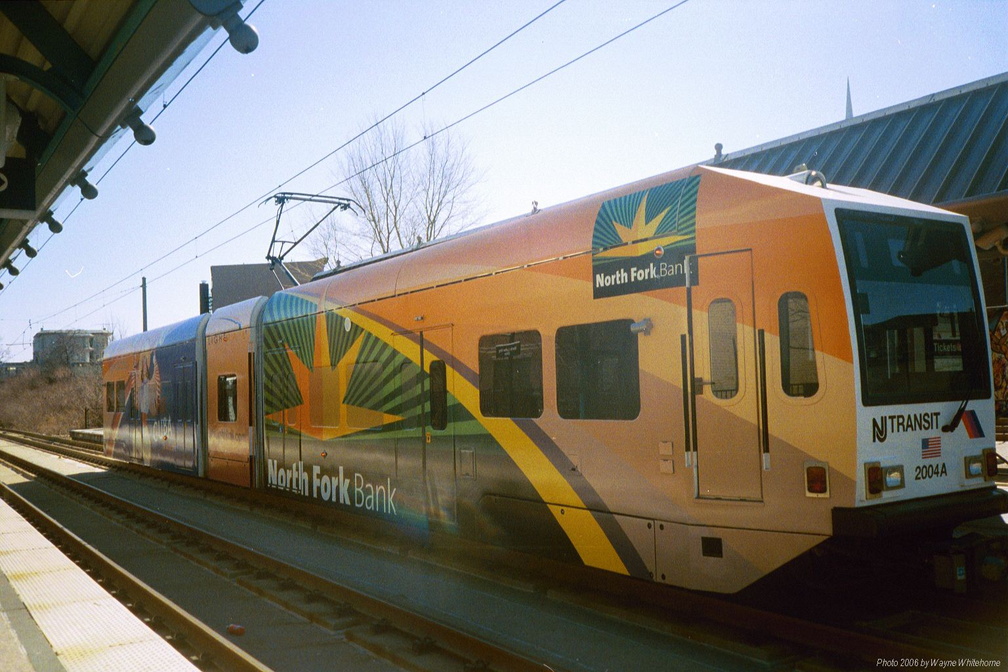
[[[808,297],[787,292],[777,301],[780,326],[780,383],[790,397],[811,397],[818,392],[815,347]]]

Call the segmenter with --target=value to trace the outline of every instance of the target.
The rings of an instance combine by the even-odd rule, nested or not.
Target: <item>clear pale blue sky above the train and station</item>
[[[0,353],[30,359],[42,327],[140,330],[141,275],[151,327],[196,314],[212,265],[263,261],[275,211],[251,204],[338,182],[340,154],[284,183],[554,1],[264,0],[258,49],[223,48],[97,199],[58,204],[64,233],[30,236],[45,249],[2,278]],[[674,4],[566,0],[399,117],[410,133],[453,123]],[[1008,72],[1005,26],[1000,0],[689,0],[455,131],[489,223],[707,159],[717,142],[730,153],[840,121],[848,79],[860,115]],[[287,233],[309,223],[284,218]]]

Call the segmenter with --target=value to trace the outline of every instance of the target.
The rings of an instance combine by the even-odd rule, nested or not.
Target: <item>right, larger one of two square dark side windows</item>
[[[640,366],[631,319],[556,329],[556,410],[569,420],[640,414]]]

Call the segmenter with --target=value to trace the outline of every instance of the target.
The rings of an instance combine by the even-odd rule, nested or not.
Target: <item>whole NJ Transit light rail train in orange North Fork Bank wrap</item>
[[[733,592],[1008,511],[977,278],[965,217],[692,167],[117,341],[105,449]]]

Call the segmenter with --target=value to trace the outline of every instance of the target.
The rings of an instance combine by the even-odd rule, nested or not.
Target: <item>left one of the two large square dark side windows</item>
[[[542,337],[538,331],[480,338],[480,412],[503,418],[542,415]]]

